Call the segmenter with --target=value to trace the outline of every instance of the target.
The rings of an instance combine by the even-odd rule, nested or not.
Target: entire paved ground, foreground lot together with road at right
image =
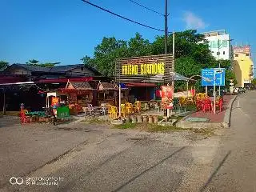
[[[2,127],[0,180],[7,183],[0,191],[256,191],[255,104],[256,92],[240,95],[230,129],[210,138],[190,131],[146,133],[82,123]],[[28,183],[11,186],[14,171]],[[58,186],[32,185],[37,177],[54,177]]]

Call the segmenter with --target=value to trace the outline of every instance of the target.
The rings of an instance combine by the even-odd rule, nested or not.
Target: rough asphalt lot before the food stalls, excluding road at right
[[[82,123],[2,127],[0,191],[197,191],[210,175],[218,137],[106,128]],[[11,186],[13,176],[62,180],[58,186]]]

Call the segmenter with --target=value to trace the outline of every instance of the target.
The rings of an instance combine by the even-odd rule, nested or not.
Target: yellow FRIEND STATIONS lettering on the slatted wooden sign
[[[150,63],[150,64],[130,64],[122,66],[122,75],[134,74],[164,74],[164,62]]]

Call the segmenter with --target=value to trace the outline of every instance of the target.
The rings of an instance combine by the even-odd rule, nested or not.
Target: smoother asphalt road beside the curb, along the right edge
[[[222,163],[207,189],[256,191],[256,91],[238,96],[230,130],[224,135],[216,155],[218,162],[222,157]]]

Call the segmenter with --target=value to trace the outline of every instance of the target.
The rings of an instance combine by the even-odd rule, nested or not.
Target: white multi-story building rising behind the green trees
[[[209,42],[211,53],[216,59],[232,59],[232,46],[230,44],[230,34],[226,30],[215,30],[202,33]]]

